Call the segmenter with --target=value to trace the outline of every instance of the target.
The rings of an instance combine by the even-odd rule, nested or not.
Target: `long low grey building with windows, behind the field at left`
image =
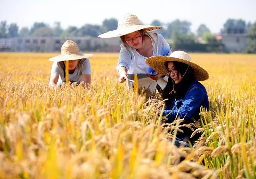
[[[99,37],[15,37],[0,39],[0,51],[59,52],[66,40],[75,41],[81,51],[119,52],[121,39]]]

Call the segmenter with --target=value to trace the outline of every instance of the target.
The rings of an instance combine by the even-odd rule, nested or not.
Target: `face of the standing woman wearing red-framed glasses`
[[[126,34],[124,36],[126,43],[132,48],[141,48],[142,47],[142,35],[139,31]]]

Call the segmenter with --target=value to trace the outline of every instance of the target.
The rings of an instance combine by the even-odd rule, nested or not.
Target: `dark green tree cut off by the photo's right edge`
[[[256,53],[256,21],[248,29],[247,53]]]

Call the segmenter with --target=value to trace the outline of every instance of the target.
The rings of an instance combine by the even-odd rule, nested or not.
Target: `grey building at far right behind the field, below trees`
[[[222,44],[229,52],[243,52],[247,45],[247,34],[221,34]]]

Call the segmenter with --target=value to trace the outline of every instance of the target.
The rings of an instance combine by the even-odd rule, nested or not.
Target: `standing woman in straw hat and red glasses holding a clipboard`
[[[150,26],[140,23],[137,16],[126,14],[119,20],[117,29],[101,34],[98,37],[111,38],[120,37],[122,40],[116,70],[119,73],[119,82],[128,80],[127,74],[148,73],[148,65],[145,60],[151,56],[167,56],[171,54],[169,44],[161,34],[152,31],[161,29],[161,26]],[[163,90],[167,84],[168,77],[163,74],[147,75],[149,78],[139,79],[139,86],[148,88],[150,92]],[[164,77],[164,78],[163,78]],[[128,82],[128,88],[133,82]]]

